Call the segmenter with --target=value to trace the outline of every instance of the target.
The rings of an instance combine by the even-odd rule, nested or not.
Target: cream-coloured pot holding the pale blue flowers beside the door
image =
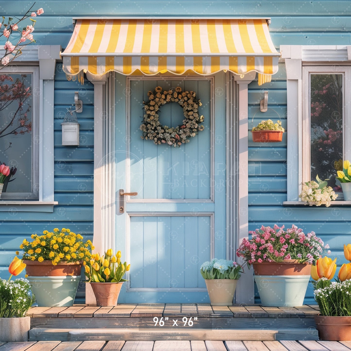
[[[211,306],[231,306],[238,279],[205,279]]]

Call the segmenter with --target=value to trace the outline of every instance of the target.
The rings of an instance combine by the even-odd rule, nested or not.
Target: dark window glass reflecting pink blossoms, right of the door
[[[311,180],[335,184],[336,165],[343,160],[343,93],[341,74],[311,74]]]

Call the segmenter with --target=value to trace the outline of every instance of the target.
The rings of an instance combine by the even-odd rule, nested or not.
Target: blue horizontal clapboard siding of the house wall
[[[30,4],[31,5],[31,4]],[[27,1],[14,0],[2,5],[2,14],[20,17],[23,8],[30,6]],[[178,0],[167,2],[159,0],[145,1],[57,1],[37,2],[35,6],[44,7],[44,15],[37,17],[34,37],[39,45],[62,45],[66,47],[73,31],[72,17],[87,16],[204,16],[204,17],[270,17],[270,34],[276,48],[279,45],[349,45],[351,20],[349,0],[344,1],[208,1]],[[5,39],[5,38],[2,38]],[[47,226],[63,226],[79,229],[92,234],[92,201],[91,183],[88,182],[93,172],[93,96],[92,86],[86,82],[67,82],[60,65],[55,79],[55,200],[60,205],[53,214],[40,213],[0,213],[0,250],[14,252],[22,238]],[[84,144],[79,148],[59,145],[61,122],[65,114],[67,101],[71,101],[75,90],[84,90],[82,97],[84,112],[78,115],[80,131]],[[257,81],[249,85],[249,128],[261,119],[277,119],[276,113],[268,110],[258,112],[259,100],[263,92],[269,91],[269,107],[279,113],[282,124],[286,126],[286,72],[284,63],[279,63],[279,71],[272,82],[259,87]],[[81,93],[80,93],[81,95]],[[140,105],[140,102],[139,102]],[[164,106],[165,108],[166,106]],[[163,108],[163,109],[164,109]],[[165,110],[163,110],[165,111]],[[140,110],[140,116],[142,111]],[[124,137],[125,131],[121,132]],[[289,131],[287,131],[289,133]],[[283,207],[286,200],[286,135],[282,143],[254,144],[249,135],[249,228],[253,230],[263,225],[296,224],[306,230],[314,230],[331,246],[332,256],[338,256],[338,264],[344,262],[342,245],[351,239],[350,208],[345,206],[330,208]],[[133,135],[132,135],[133,137]],[[139,137],[139,136],[135,136]],[[190,145],[190,144],[187,144]],[[187,146],[186,145],[186,146]],[[151,146],[151,145],[150,145]],[[194,152],[194,150],[192,150]],[[158,155],[161,156],[161,155]],[[162,157],[171,157],[162,155]],[[217,161],[217,160],[216,160]],[[289,170],[296,171],[296,170]],[[157,175],[157,174],[156,174]],[[137,171],[134,174],[138,177]],[[73,185],[65,189],[65,180],[72,180]],[[137,178],[136,178],[137,179]],[[78,180],[78,181],[77,181]],[[86,187],[80,186],[83,183]],[[68,183],[67,183],[68,184]],[[83,191],[81,191],[83,190]],[[193,191],[194,189],[192,189]],[[165,188],[158,188],[159,194],[165,194]],[[187,191],[187,190],[185,190]],[[165,194],[167,195],[167,194]],[[195,196],[195,195],[194,195]],[[68,211],[67,211],[68,209]],[[71,213],[72,209],[72,213]],[[69,218],[65,218],[68,213]],[[160,224],[161,226],[161,224]],[[159,229],[161,230],[161,229]],[[225,230],[225,229],[224,229]],[[1,241],[2,240],[2,241]],[[157,245],[162,245],[160,242]],[[200,243],[199,243],[200,245]],[[153,251],[162,247],[153,248]],[[168,254],[171,254],[168,252]],[[5,262],[0,256],[0,269]],[[182,260],[183,262],[183,260]],[[168,269],[168,268],[167,268]],[[136,273],[136,271],[133,272]],[[162,275],[159,282],[163,282]],[[143,278],[143,272],[140,272]],[[183,283],[182,283],[183,284]],[[186,279],[184,279],[186,284]],[[306,302],[312,301],[312,290],[309,287]],[[145,300],[145,302],[148,302]]]

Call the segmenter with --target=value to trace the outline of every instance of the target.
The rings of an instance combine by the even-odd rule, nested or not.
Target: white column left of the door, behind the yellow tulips
[[[114,116],[113,89],[108,75],[86,73],[94,84],[94,252],[103,254],[115,249],[115,194],[114,194]],[[110,82],[108,82],[110,83]],[[112,91],[112,93],[111,93]],[[85,303],[96,304],[90,284],[86,284]]]

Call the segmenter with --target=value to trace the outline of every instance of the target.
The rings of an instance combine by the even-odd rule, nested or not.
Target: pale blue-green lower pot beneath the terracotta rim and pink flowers
[[[302,306],[310,275],[254,275],[263,306]]]

